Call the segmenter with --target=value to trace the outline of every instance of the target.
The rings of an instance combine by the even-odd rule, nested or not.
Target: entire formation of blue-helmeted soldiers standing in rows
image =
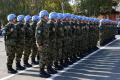
[[[17,24],[14,14],[7,19],[4,39],[9,73],[39,64],[40,76],[48,78],[96,50],[98,41],[103,44],[116,35],[115,21],[70,13],[49,14],[42,10],[33,17],[19,15]],[[22,56],[24,66],[21,65]],[[16,70],[12,68],[15,57]]]

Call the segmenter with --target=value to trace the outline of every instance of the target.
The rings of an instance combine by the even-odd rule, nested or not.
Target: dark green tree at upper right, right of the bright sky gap
[[[87,16],[98,16],[101,13],[110,13],[112,0],[77,0],[80,13]]]

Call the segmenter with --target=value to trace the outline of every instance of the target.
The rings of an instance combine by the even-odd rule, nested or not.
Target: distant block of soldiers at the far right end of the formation
[[[100,20],[99,28],[101,46],[115,39],[115,35],[117,34],[117,22],[109,19],[102,19]]]

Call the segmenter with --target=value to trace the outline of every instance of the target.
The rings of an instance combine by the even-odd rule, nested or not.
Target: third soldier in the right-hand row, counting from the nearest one
[[[61,69],[67,65],[65,65],[64,63],[64,59],[65,59],[65,54],[64,54],[64,48],[65,48],[65,35],[64,35],[64,26],[63,26],[63,14],[62,13],[58,13],[58,20],[57,20],[57,48],[59,48],[58,54],[59,54],[59,61],[60,61],[60,66]],[[60,67],[59,66],[59,67]]]

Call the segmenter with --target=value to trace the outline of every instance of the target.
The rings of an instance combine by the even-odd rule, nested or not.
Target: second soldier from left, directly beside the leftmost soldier
[[[24,30],[24,15],[19,15],[17,17],[18,23],[16,24],[17,28],[17,54],[16,54],[16,69],[24,70],[25,68],[21,66],[21,58],[24,51],[24,40],[25,40],[25,30]]]

